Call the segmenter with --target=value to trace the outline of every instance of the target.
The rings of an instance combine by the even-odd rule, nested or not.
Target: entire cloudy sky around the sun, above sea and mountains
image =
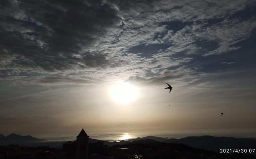
[[[1,0],[0,8],[4,135],[82,126],[89,136],[256,132],[255,0]],[[133,101],[113,100],[122,83],[138,91]]]

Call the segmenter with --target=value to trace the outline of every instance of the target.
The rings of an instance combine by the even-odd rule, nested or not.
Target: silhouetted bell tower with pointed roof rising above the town
[[[76,136],[76,159],[88,159],[88,143],[89,136],[82,128],[81,132]]]

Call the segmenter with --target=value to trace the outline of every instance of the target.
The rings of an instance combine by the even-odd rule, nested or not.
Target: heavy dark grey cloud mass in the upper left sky
[[[88,67],[102,66],[104,55],[94,56],[96,63],[86,61],[92,59],[89,55],[75,55],[83,54],[106,34],[106,29],[119,24],[116,9],[101,1],[18,2],[4,3],[1,11],[0,36],[5,37],[1,54],[17,55],[12,63],[48,71],[75,68],[81,60]]]

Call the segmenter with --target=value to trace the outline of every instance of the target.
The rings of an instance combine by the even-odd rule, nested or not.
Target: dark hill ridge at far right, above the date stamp
[[[183,143],[192,147],[219,152],[220,149],[250,149],[255,147],[256,140],[251,138],[189,136],[181,139],[170,138],[167,143]]]

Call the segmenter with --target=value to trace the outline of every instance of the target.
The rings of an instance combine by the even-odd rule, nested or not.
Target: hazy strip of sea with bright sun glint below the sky
[[[48,141],[73,141],[76,139],[77,133],[70,134],[39,134],[35,135],[36,138],[45,139]],[[132,139],[145,136],[157,136],[168,138],[183,138],[187,136],[226,136],[226,137],[256,137],[256,129],[214,129],[214,130],[172,130],[172,131],[144,131],[144,132],[118,132],[118,133],[93,133],[86,132],[90,138],[106,140],[106,141],[119,141]]]

